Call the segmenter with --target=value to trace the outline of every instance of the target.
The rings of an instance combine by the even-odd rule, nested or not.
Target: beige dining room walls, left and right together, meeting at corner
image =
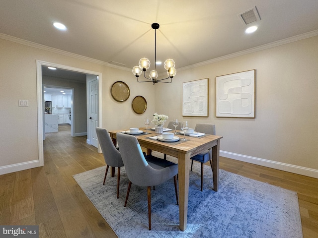
[[[82,68],[102,75],[102,126],[143,126],[154,112],[170,119],[181,115],[182,82],[209,78],[209,117],[184,118],[216,124],[221,154],[269,167],[318,177],[318,37],[289,43],[208,65],[179,70],[171,84],[137,83],[131,71],[0,39],[0,173],[38,159],[36,60]],[[255,119],[215,117],[215,77],[256,69]],[[119,103],[110,87],[126,82],[130,98]],[[132,111],[142,95],[145,114]],[[19,108],[18,99],[29,107]]]

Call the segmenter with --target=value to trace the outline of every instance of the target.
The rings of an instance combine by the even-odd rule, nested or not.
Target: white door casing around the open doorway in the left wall
[[[56,63],[51,63],[51,62],[46,62],[46,61],[41,61],[41,60],[36,60],[36,69],[37,69],[37,114],[38,114],[38,154],[39,154],[39,162],[40,166],[44,165],[44,155],[43,155],[43,134],[44,134],[44,123],[43,123],[43,117],[44,117],[44,112],[43,112],[43,102],[44,102],[44,93],[43,93],[43,85],[42,85],[42,66],[51,66],[55,68],[60,68],[72,72],[79,72],[83,73],[86,75],[96,75],[98,77],[98,123],[99,126],[102,126],[102,74],[100,72],[94,72],[94,71],[89,71],[81,68],[75,68],[67,65],[61,65],[61,64],[56,64]],[[74,94],[73,94],[74,95]],[[87,96],[87,95],[86,95]],[[74,114],[73,114],[74,115]],[[85,119],[87,120],[87,119]],[[87,133],[89,130],[89,127],[87,126]],[[91,132],[90,132],[91,133]],[[74,136],[80,136],[81,134],[74,133]],[[98,148],[98,152],[100,152],[100,148]]]

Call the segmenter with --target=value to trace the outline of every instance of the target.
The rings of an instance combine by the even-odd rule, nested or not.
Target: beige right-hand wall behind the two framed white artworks
[[[256,69],[255,119],[216,118],[216,76],[250,69]],[[318,176],[318,37],[177,72],[171,85],[156,86],[157,113],[182,119],[182,82],[203,78],[209,78],[209,117],[183,119],[193,127],[215,123],[222,155]]]

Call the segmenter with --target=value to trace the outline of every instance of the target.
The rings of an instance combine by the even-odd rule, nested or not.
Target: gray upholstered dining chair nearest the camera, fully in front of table
[[[124,206],[126,207],[127,205],[132,183],[138,186],[147,187],[148,221],[149,230],[151,230],[151,187],[159,185],[160,183],[173,178],[175,196],[178,205],[178,192],[176,185],[178,165],[170,161],[159,159],[152,155],[145,157],[137,138],[133,135],[127,135],[118,132],[117,141],[125,165],[126,174],[129,179]]]

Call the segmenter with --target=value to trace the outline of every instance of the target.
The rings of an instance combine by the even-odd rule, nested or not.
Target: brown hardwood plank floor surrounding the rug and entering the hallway
[[[103,156],[70,129],[46,134],[43,167],[0,176],[1,225],[39,225],[40,238],[116,237],[72,177],[104,166]],[[296,191],[304,238],[318,237],[318,179],[224,157],[220,169]]]

